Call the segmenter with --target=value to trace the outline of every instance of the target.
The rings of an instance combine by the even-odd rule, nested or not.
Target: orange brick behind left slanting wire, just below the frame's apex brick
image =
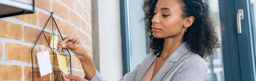
[[[25,42],[31,42],[31,43],[35,43],[36,40],[38,39],[39,35],[41,34],[41,30],[35,29],[35,28],[30,28],[28,26],[24,26],[24,41]],[[44,35],[46,36],[47,39],[45,39]],[[47,41],[50,41],[50,34],[48,33],[42,33],[37,45],[45,45],[45,46],[49,46]]]

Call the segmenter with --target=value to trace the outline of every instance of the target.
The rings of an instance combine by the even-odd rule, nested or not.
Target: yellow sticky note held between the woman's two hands
[[[67,73],[68,74],[67,66],[66,66],[66,64],[67,64],[66,57],[59,55],[58,52],[56,52],[56,53],[57,53],[58,64],[59,64],[59,67],[60,67],[61,71],[63,73]]]

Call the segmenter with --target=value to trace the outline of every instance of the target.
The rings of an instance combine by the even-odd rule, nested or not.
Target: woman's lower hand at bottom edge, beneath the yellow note
[[[67,78],[69,78],[70,80],[68,80]],[[74,76],[74,75],[69,75],[69,74],[64,74],[62,73],[62,81],[88,81],[84,78],[81,78],[79,76]]]

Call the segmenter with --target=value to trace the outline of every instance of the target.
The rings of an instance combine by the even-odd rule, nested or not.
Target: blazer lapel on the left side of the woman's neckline
[[[152,58],[146,59],[140,64],[141,66],[138,69],[138,72],[136,74],[134,81],[141,81],[141,79],[143,78],[147,70],[151,67],[151,65],[153,64],[156,58],[157,56],[155,55]]]

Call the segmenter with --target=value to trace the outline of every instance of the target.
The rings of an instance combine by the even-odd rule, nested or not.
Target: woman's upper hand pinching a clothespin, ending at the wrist
[[[58,47],[63,47],[64,50],[70,49],[78,59],[83,59],[83,56],[88,56],[86,47],[82,43],[79,36],[67,36],[58,45]]]

